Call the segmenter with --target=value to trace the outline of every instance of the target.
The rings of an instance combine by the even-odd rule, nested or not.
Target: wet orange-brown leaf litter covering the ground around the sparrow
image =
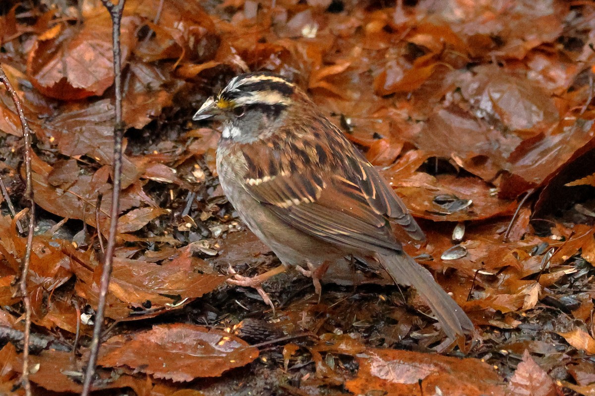
[[[98,1],[50,3],[0,6],[0,62],[36,137],[33,333],[72,347],[80,328],[82,344],[33,353],[30,379],[38,394],[75,394],[111,204],[111,24]],[[124,189],[95,389],[595,394],[593,4],[273,4],[126,2]],[[468,313],[474,340],[445,340],[422,291],[357,259],[331,265],[320,301],[295,271],[268,281],[276,317],[224,284],[228,265],[279,263],[223,197],[217,132],[189,120],[248,69],[293,78],[378,167],[428,235],[405,249]],[[0,114],[0,177],[21,210],[4,91]],[[22,216],[2,205],[0,392],[15,394]]]

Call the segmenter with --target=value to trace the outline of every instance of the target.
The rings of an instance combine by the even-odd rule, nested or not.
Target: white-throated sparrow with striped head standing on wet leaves
[[[374,256],[396,283],[418,290],[449,337],[473,330],[395,239],[391,223],[424,239],[403,202],[299,87],[267,72],[239,75],[193,119],[211,117],[223,121],[223,191],[284,265],[309,268],[320,292],[318,277],[329,262]]]

